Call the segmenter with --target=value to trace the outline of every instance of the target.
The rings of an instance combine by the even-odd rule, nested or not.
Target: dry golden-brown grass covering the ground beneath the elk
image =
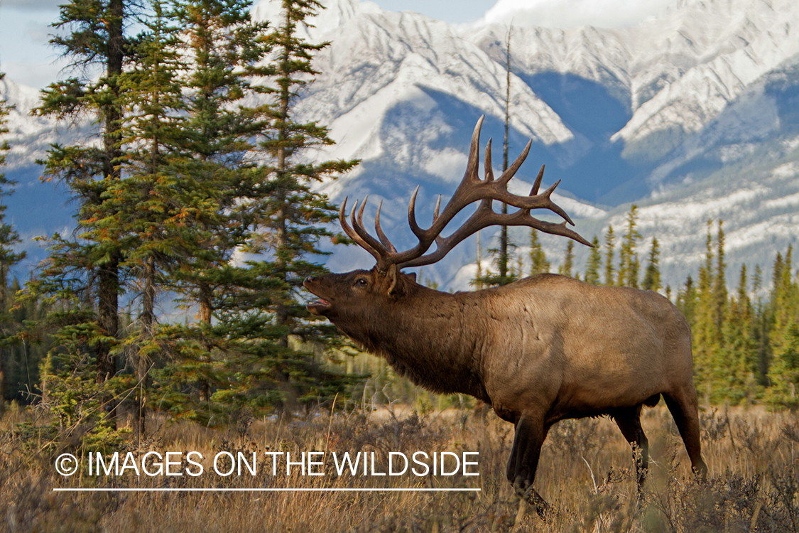
[[[554,508],[540,519],[504,479],[513,432],[494,416],[446,411],[318,416],[285,424],[249,420],[226,431],[161,424],[132,451],[479,451],[479,477],[272,476],[82,477],[54,471],[58,451],[10,433],[31,416],[0,421],[0,531],[799,531],[799,418],[789,413],[710,410],[702,444],[706,483],[688,458],[665,408],[645,412],[652,462],[643,499],[630,447],[610,420],[570,420],[545,444],[536,487]],[[271,464],[271,463],[270,463]],[[54,487],[479,487],[479,492],[62,493]]]

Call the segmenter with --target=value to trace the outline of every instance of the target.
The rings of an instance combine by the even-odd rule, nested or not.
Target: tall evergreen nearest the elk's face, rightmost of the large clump
[[[290,336],[307,337],[313,331],[322,332],[320,340],[332,343],[330,329],[307,326],[308,311],[301,301],[302,280],[324,272],[324,267],[308,261],[319,255],[320,240],[334,236],[324,225],[335,221],[337,209],[327,197],[312,189],[325,177],[335,177],[352,169],[357,161],[307,162],[311,149],[331,145],[327,129],[315,122],[297,121],[295,104],[300,90],[316,74],[312,56],[329,43],[310,44],[297,34],[298,24],[308,24],[308,18],[322,6],[316,0],[282,0],[282,20],[264,39],[273,51],[274,60],[265,70],[275,78],[273,86],[264,86],[272,97],[265,109],[271,125],[264,130],[259,149],[268,161],[259,167],[260,181],[268,196],[260,197],[252,208],[256,225],[264,236],[248,246],[248,251],[265,253],[272,259],[263,261],[253,270],[262,283],[272,283],[279,297],[264,311],[273,316],[279,328],[274,342],[263,344],[261,355],[268,360],[269,378],[276,383],[285,413],[297,400],[316,401],[332,398],[343,389],[344,382],[316,368],[307,353],[292,347]]]

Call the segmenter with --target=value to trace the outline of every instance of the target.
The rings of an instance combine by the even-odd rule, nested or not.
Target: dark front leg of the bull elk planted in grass
[[[546,515],[549,505],[532,485],[539,466],[541,445],[546,437],[547,428],[544,428],[538,417],[521,416],[516,422],[511,459],[507,463],[507,480],[513,483],[516,492],[531,503],[541,516]]]

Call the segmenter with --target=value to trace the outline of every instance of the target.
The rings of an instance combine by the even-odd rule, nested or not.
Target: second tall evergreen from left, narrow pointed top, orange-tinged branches
[[[120,242],[125,250],[121,266],[137,280],[137,334],[125,340],[124,348],[134,369],[139,436],[146,429],[149,368],[163,357],[155,305],[165,272],[200,248],[203,221],[217,213],[208,190],[181,176],[189,131],[183,125],[185,102],[178,75],[185,65],[177,53],[177,26],[165,3],[153,0],[149,10],[152,16],[143,22],[145,31],[137,38],[133,61],[118,78],[126,110],[121,142],[129,147],[124,173],[108,186],[96,229],[90,233]]]

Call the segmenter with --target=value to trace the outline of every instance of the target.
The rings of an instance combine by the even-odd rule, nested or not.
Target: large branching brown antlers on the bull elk
[[[411,226],[411,231],[416,238],[419,239],[419,244],[415,245],[415,247],[403,252],[397,252],[392,242],[388,240],[388,237],[386,237],[386,234],[380,227],[380,208],[383,206],[382,201],[377,208],[375,216],[375,230],[380,241],[372,237],[372,235],[364,229],[364,207],[366,207],[366,202],[369,198],[368,195],[364,198],[364,202],[360,205],[360,209],[358,209],[358,201],[352,206],[352,213],[350,213],[350,220],[352,221],[351,227],[347,223],[347,217],[345,215],[347,198],[344,198],[344,203],[341,204],[341,209],[339,211],[341,227],[353,241],[356,241],[361,248],[375,257],[377,269],[380,272],[385,272],[386,268],[390,265],[397,265],[397,267],[400,268],[431,265],[446,256],[447,253],[455,248],[455,245],[463,241],[463,239],[469,237],[473,233],[477,233],[480,229],[492,225],[530,226],[544,233],[562,235],[563,237],[574,239],[574,241],[578,241],[583,245],[591,246],[590,243],[580,237],[578,233],[566,228],[566,222],[570,225],[574,225],[574,222],[572,222],[569,215],[551,199],[552,192],[555,191],[555,187],[558,186],[560,180],[556,181],[549,189],[539,194],[541,179],[544,173],[543,165],[541,166],[538,177],[535,178],[535,184],[530,192],[530,196],[519,196],[508,192],[507,183],[511,181],[511,177],[513,177],[516,171],[519,170],[519,167],[522,166],[522,163],[527,157],[527,153],[530,152],[533,141],[527,143],[527,146],[519,157],[516,158],[516,161],[502,173],[499,179],[495,180],[494,171],[491,169],[491,140],[489,140],[486,145],[485,157],[486,179],[481,180],[479,178],[479,157],[477,155],[477,150],[479,149],[480,128],[482,125],[483,117],[480,117],[477,121],[477,125],[475,125],[475,133],[472,133],[471,136],[469,161],[467,163],[466,173],[463,175],[463,181],[461,181],[458,188],[455,189],[455,193],[450,198],[450,201],[447,202],[447,205],[444,206],[440,215],[439,208],[441,206],[441,197],[439,196],[439,200],[435,204],[433,223],[428,229],[422,229],[416,222],[415,205],[416,194],[419,193],[419,187],[417,186],[413,192],[413,196],[411,196],[411,201],[407,207],[407,221]],[[495,200],[517,207],[519,210],[515,213],[496,213],[492,207],[492,203]],[[475,213],[449,237],[441,237],[441,232],[447,227],[447,224],[450,223],[455,215],[475,201],[480,201],[480,205]],[[357,218],[356,209],[358,213]],[[531,209],[549,209],[554,213],[558,213],[565,220],[560,224],[539,221],[539,219],[531,217]],[[425,255],[434,242],[435,251]]]

